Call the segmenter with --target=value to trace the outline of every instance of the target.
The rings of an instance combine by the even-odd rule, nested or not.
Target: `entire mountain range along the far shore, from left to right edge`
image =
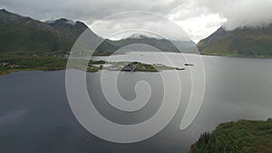
[[[58,52],[69,53],[76,39],[87,29],[82,22],[67,19],[41,22],[30,17],[0,10],[0,53]],[[91,31],[92,33],[92,31]],[[97,39],[102,39],[95,33]],[[119,41],[104,40],[98,55],[108,55],[129,44],[143,43],[162,52],[196,53],[195,43],[132,35]],[[267,27],[239,27],[227,31],[220,27],[197,44],[201,54],[270,57],[272,55],[272,24]],[[144,45],[131,46],[131,51],[149,51]]]

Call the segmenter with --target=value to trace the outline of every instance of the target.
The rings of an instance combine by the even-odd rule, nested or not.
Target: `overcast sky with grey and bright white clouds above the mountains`
[[[221,25],[232,30],[272,22],[272,0],[0,0],[0,7],[42,21],[61,17],[83,21],[102,36],[109,28],[121,31],[128,24],[141,28],[158,22],[150,20],[150,24],[145,24],[136,20],[132,23],[127,16],[127,20],[117,17],[92,25],[102,18],[125,11],[148,11],[172,20],[195,42]]]

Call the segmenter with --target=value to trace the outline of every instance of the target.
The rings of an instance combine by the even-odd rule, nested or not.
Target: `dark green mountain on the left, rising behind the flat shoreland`
[[[82,22],[67,19],[41,22],[30,17],[0,10],[0,53],[24,52],[69,52],[73,43],[87,29]],[[91,31],[92,33],[92,31]],[[94,36],[99,38],[95,33]],[[104,42],[99,52],[113,48]]]

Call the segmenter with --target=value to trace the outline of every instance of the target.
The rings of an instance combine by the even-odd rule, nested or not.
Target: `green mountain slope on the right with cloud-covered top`
[[[238,27],[232,31],[220,27],[197,46],[202,54],[270,57],[272,24],[267,27]]]

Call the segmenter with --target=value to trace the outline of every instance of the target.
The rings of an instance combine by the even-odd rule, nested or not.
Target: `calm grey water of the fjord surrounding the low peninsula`
[[[142,55],[141,55],[142,54]],[[172,61],[183,66],[179,54]],[[112,61],[140,61],[168,64],[159,53],[129,53]],[[180,72],[180,108],[158,135],[134,144],[114,144],[95,138],[74,118],[65,93],[65,72],[16,72],[0,77],[0,152],[1,153],[186,153],[200,133],[219,123],[272,117],[272,60],[203,56],[206,91],[203,105],[188,129],[180,130],[180,120],[189,100],[189,72]],[[108,72],[111,75],[113,72]],[[167,72],[166,72],[167,73]],[[89,94],[104,117],[122,124],[149,119],[160,107],[163,93],[158,73],[121,72],[118,87],[126,100],[135,98],[137,81],[148,81],[151,100],[141,111],[124,114],[105,102],[100,87],[100,72],[87,75]],[[93,90],[94,89],[94,90]],[[112,115],[114,114],[114,115]],[[88,139],[88,140],[87,140]]]

